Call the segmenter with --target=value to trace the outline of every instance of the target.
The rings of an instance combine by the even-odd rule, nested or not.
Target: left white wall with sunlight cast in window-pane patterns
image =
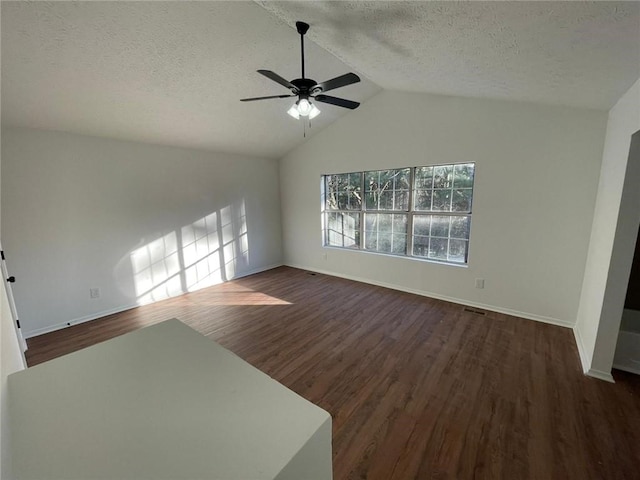
[[[276,161],[29,129],[2,140],[26,337],[282,262]]]

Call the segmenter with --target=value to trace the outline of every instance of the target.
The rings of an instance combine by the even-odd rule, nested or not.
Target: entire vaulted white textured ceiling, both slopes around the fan
[[[291,99],[256,73],[608,109],[640,77],[637,2],[5,2],[2,124],[279,158]],[[343,115],[320,105],[307,137]]]

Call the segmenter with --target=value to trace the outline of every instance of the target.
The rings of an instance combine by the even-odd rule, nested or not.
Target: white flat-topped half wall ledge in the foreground
[[[169,320],[9,377],[16,479],[325,480],[331,416]]]

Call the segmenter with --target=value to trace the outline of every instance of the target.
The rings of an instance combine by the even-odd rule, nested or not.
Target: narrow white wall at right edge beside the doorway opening
[[[585,372],[609,380],[640,222],[640,157],[628,161],[638,130],[640,80],[609,112],[575,329]]]

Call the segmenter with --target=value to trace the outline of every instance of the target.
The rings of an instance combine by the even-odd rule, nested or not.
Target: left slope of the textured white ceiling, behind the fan
[[[2,124],[278,158],[302,143],[295,29],[253,2],[2,2]],[[311,41],[306,73],[350,69]],[[358,73],[358,72],[356,72]],[[366,100],[363,82],[335,96]],[[320,105],[307,136],[350,110]]]

